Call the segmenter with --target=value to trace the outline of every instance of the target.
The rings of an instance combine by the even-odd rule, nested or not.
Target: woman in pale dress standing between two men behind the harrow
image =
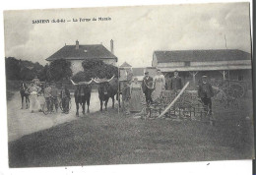
[[[152,93],[152,99],[155,101],[160,97],[161,91],[165,90],[165,78],[164,76],[160,73],[160,70],[157,72],[157,76],[154,77],[154,87],[155,90]]]

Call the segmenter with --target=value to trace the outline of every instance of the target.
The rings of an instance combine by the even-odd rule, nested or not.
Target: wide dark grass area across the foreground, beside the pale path
[[[228,113],[228,112],[227,112]],[[159,163],[252,158],[247,114],[229,111],[215,127],[96,112],[9,143],[10,167]],[[235,119],[235,120],[231,120]]]

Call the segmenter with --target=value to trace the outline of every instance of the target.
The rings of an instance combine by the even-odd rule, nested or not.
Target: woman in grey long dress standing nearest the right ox
[[[131,84],[130,90],[131,90],[130,112],[141,112],[141,110],[143,109],[143,105],[142,105],[143,93],[142,93],[142,87],[138,82],[138,78],[134,78],[134,82]]]

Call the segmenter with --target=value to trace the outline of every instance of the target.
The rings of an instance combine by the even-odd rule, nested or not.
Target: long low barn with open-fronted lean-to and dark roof
[[[202,75],[210,79],[230,79],[251,84],[251,54],[237,49],[155,51],[152,66],[165,75],[175,70],[194,83]]]

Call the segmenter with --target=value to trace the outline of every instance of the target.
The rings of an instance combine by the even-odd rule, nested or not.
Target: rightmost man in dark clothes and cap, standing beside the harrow
[[[198,96],[206,107],[205,109],[212,115],[212,97],[214,96],[214,90],[212,85],[208,82],[207,76],[203,76],[202,81],[199,83]]]

